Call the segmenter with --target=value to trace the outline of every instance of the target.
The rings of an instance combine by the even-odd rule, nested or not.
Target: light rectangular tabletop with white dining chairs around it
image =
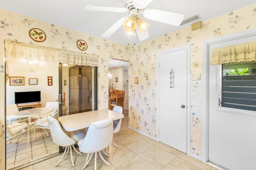
[[[95,121],[101,121],[108,118],[112,118],[114,121],[124,118],[124,115],[109,109],[100,109],[60,116],[58,120],[66,131],[76,131],[89,127],[90,124]]]

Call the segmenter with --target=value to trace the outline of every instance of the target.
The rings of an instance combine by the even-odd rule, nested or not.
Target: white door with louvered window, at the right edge
[[[213,48],[255,41],[247,37],[210,45]],[[209,66],[208,160],[230,170],[256,169],[256,117],[218,108],[221,66]]]

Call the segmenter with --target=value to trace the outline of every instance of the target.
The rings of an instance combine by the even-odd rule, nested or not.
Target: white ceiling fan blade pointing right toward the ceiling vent
[[[150,20],[168,23],[170,25],[175,25],[175,26],[179,26],[185,16],[184,14],[180,14],[180,13],[155,10],[151,8],[145,9],[143,12],[143,15],[145,18],[148,18]]]

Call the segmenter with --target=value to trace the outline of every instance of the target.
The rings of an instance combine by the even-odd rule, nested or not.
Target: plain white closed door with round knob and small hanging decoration
[[[187,153],[188,48],[158,56],[159,141]]]

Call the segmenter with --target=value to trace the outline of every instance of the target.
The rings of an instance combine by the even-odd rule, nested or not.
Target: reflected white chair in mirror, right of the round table
[[[58,116],[59,116],[59,111],[54,110],[52,112],[51,117],[54,118],[54,119],[57,119]],[[49,128],[49,124],[48,124],[48,121],[47,121],[47,117],[43,117],[42,119],[36,119],[34,121],[34,141],[36,141],[36,128],[43,129],[46,132],[46,135],[48,137],[49,135],[48,135],[48,132],[46,131],[46,129],[50,129],[50,128]]]

